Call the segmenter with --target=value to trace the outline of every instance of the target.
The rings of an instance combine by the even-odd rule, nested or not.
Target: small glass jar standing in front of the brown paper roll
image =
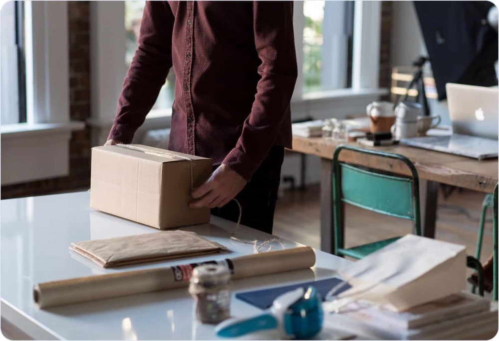
[[[231,273],[222,264],[194,268],[189,293],[194,297],[196,316],[202,323],[216,324],[231,315]]]

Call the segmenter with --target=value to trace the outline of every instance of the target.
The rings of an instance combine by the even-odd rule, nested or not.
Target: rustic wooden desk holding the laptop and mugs
[[[317,155],[321,158],[320,175],[320,225],[321,225],[321,250],[332,252],[334,234],[332,231],[332,206],[331,206],[331,159],[337,141],[321,137],[293,136],[293,151]],[[498,159],[478,161],[475,159],[446,154],[431,150],[407,147],[403,145],[387,147],[366,147],[358,143],[350,144],[367,149],[382,150],[390,153],[401,154],[408,157],[416,166],[422,181],[421,193],[424,196],[421,207],[421,223],[423,235],[435,236],[435,222],[437,218],[438,184],[447,184],[474,191],[492,193],[498,183]],[[360,155],[349,151],[340,154],[340,160],[366,167],[391,171],[409,175],[409,170],[400,161],[389,160],[374,156]],[[426,182],[426,185],[424,184]]]

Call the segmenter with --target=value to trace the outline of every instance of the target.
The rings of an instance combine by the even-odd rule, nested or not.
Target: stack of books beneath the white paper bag
[[[497,303],[464,292],[398,313],[362,303],[338,313],[329,314],[328,303],[324,309],[326,325],[361,339],[485,340],[498,331]]]

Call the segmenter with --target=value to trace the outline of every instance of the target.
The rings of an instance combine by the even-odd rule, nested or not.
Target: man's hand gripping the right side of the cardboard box
[[[246,183],[245,178],[235,170],[221,164],[203,185],[192,192],[194,199],[201,199],[189,206],[195,209],[222,207],[234,199]]]

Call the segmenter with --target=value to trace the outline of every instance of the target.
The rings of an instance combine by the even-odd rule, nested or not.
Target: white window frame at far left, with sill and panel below
[[[24,1],[26,122],[1,125],[1,185],[69,174],[67,1]]]

